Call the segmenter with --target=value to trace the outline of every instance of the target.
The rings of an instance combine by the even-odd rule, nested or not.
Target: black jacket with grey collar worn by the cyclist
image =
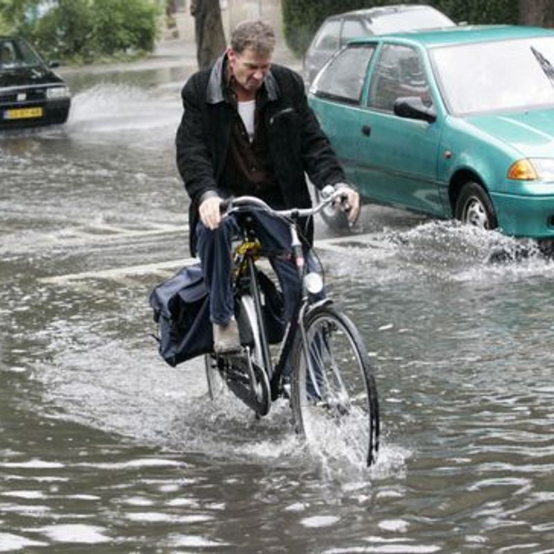
[[[198,205],[208,190],[222,197],[223,170],[236,109],[224,94],[224,56],[211,69],[192,75],[181,96],[184,114],[177,130],[177,167],[190,196],[190,251],[195,255]],[[300,75],[276,64],[265,78],[267,127],[275,177],[287,208],[311,205],[305,173],[318,188],[345,181],[329,141],[307,104]],[[308,231],[312,240],[312,229]]]

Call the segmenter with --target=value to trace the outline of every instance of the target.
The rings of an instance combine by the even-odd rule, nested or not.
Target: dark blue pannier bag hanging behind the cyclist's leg
[[[159,353],[170,366],[213,350],[210,302],[202,269],[184,267],[150,294]]]

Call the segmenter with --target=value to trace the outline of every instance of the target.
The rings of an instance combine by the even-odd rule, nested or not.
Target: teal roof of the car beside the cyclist
[[[402,33],[390,33],[373,37],[359,37],[350,42],[375,42],[393,38],[418,42],[427,48],[447,46],[449,44],[470,44],[472,42],[487,42],[496,40],[552,37],[554,30],[542,27],[519,25],[462,25],[430,30],[408,30]]]

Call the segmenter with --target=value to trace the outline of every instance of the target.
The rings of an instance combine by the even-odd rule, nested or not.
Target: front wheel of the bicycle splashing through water
[[[379,448],[373,368],[355,325],[330,305],[305,317],[292,350],[292,409],[312,449],[371,465]]]

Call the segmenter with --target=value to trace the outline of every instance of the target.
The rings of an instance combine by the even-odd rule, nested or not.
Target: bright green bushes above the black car
[[[136,55],[152,51],[157,37],[152,0],[0,0],[0,13],[4,33],[26,36],[49,59]]]

